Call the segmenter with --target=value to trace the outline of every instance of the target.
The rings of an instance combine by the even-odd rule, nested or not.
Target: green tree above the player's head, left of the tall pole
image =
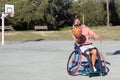
[[[105,24],[105,10],[103,2],[98,3],[95,0],[82,0],[74,2],[71,13],[78,15],[82,21],[82,15],[85,15],[85,24],[87,25],[103,25]]]

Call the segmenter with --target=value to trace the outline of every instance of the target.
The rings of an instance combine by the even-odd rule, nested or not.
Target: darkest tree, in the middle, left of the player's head
[[[72,15],[68,11],[70,4],[67,0],[53,0],[49,3],[46,17],[53,29],[72,25]]]

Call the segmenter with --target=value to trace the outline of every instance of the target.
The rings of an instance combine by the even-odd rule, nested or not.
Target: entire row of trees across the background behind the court
[[[106,25],[105,0],[5,0],[15,5],[15,17],[6,18],[7,25],[15,29],[33,29],[34,25],[47,25],[49,29],[71,26],[77,15],[86,25]],[[110,22],[120,24],[119,0],[110,0]],[[0,2],[2,9],[3,2]]]

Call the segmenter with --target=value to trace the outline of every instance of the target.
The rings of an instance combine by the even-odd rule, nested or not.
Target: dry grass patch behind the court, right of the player
[[[99,34],[103,40],[120,40],[120,26],[116,27],[102,27],[94,29],[94,32]]]

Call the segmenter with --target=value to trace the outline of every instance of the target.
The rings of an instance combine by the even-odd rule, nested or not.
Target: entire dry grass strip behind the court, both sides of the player
[[[120,26],[92,27],[91,29],[103,40],[120,40]],[[60,31],[5,31],[5,41],[27,40],[73,40],[73,38],[71,28],[63,28]]]

